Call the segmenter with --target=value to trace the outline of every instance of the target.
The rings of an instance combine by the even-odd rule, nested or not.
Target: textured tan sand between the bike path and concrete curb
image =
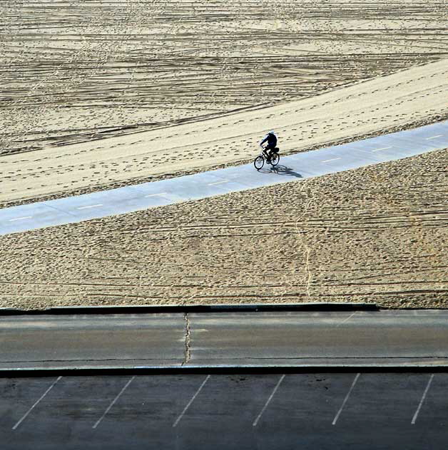
[[[448,307],[448,150],[0,240],[0,305]]]

